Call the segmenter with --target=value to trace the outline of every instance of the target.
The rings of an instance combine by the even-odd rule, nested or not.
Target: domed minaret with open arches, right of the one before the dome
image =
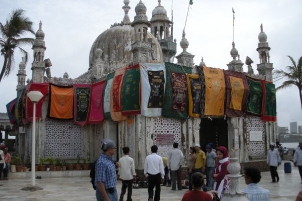
[[[176,40],[170,35],[171,22],[167,16],[166,9],[161,5],[161,0],[158,0],[159,6],[152,11],[151,33],[158,39],[163,52],[164,62],[171,62],[171,58],[176,54]]]

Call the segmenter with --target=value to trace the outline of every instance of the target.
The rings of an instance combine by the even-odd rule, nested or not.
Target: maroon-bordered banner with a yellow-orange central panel
[[[228,117],[245,116],[250,87],[246,75],[233,70],[223,70],[225,77],[226,107]]]

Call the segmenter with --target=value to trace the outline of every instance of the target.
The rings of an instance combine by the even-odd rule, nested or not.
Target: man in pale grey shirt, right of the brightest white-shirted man
[[[173,144],[173,149],[168,153],[168,168],[171,171],[172,189],[176,190],[176,174],[177,174],[177,188],[182,189],[181,183],[181,166],[183,163],[184,155],[181,150],[178,149],[178,143]]]

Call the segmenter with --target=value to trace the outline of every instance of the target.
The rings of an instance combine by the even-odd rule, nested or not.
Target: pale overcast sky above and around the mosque
[[[135,6],[139,0],[130,0],[130,20],[133,21]],[[148,20],[153,9],[158,6],[157,0],[143,0],[147,7]],[[179,45],[185,25],[189,0],[173,0],[174,38],[177,39],[177,55],[182,52]],[[207,66],[228,69],[226,64],[232,61],[230,51],[233,41],[233,12],[235,11],[234,41],[240,59],[245,63],[249,56],[254,63],[252,67],[258,74],[259,63],[258,34],[260,25],[268,36],[271,47],[270,62],[274,69],[285,69],[290,65],[286,55],[296,61],[302,56],[302,1],[301,0],[193,0],[190,6],[186,25],[186,38],[189,41],[187,51],[193,55],[195,64],[201,57]],[[89,68],[89,53],[95,39],[110,25],[122,21],[123,0],[0,0],[0,22],[4,23],[14,9],[26,10],[26,16],[34,22],[35,31],[42,21],[45,33],[45,59],[52,62],[51,75],[62,77],[66,71],[69,77],[75,78]],[[171,20],[172,0],[162,0],[161,5],[168,12]],[[150,31],[150,29],[149,29]],[[33,37],[34,35],[28,35]],[[32,77],[31,63],[33,51],[27,46],[24,49],[30,54],[26,66],[27,78]],[[16,97],[16,86],[21,54],[15,52],[15,67],[9,77],[0,82],[0,112],[6,112],[6,104]],[[0,57],[0,67],[3,66]],[[176,60],[174,61],[177,62]],[[244,65],[247,71],[247,65]],[[276,81],[279,86],[282,81]],[[302,110],[298,89],[287,88],[277,92],[277,118],[279,126],[289,127],[289,122],[302,125]]]

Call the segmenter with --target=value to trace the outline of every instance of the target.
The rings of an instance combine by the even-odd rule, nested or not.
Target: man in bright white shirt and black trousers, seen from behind
[[[144,164],[143,173],[148,178],[148,201],[159,201],[161,199],[161,182],[164,181],[165,177],[163,159],[157,155],[157,151],[158,147],[153,145],[151,147],[152,154],[146,157]]]

